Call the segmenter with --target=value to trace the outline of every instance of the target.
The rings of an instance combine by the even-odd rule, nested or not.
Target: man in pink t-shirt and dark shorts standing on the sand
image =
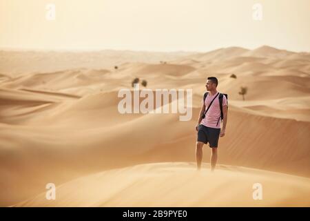
[[[197,170],[200,170],[201,161],[203,160],[203,144],[209,142],[209,147],[211,148],[211,171],[214,171],[216,166],[216,161],[218,160],[218,139],[219,137],[224,137],[225,129],[227,124],[227,99],[223,95],[223,128],[220,129],[220,101],[218,99],[219,94],[216,90],[218,86],[218,79],[216,77],[208,77],[207,83],[207,97],[203,101],[203,106],[201,107],[198,123],[196,125],[197,142],[196,142],[196,162]],[[212,100],[214,100],[212,102]],[[205,113],[207,107],[212,102],[207,113]],[[203,118],[203,114],[205,117]]]

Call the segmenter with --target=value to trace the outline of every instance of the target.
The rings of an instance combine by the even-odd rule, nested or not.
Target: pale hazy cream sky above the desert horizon
[[[55,20],[46,18],[48,3]],[[0,0],[0,47],[309,52],[309,21],[310,0]]]

